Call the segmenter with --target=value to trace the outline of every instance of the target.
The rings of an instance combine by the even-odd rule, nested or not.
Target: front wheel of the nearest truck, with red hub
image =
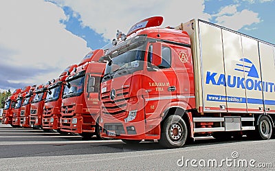
[[[178,115],[170,115],[164,121],[159,144],[166,148],[179,148],[184,146],[188,129],[184,119]]]

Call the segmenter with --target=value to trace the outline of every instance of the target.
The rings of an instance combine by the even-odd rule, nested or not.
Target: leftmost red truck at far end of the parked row
[[[5,106],[3,108],[3,121],[2,124],[10,124],[12,126],[13,110],[16,103],[17,95],[21,92],[21,89],[16,89],[7,100],[5,100]]]

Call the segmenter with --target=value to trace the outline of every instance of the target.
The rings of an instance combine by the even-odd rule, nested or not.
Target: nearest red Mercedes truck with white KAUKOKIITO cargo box
[[[166,148],[206,135],[270,139],[275,45],[200,19],[162,21],[140,21],[107,52],[102,137]]]

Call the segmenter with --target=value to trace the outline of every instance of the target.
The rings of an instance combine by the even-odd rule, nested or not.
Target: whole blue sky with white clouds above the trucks
[[[92,49],[149,16],[162,27],[193,18],[275,44],[275,0],[2,0],[0,91],[56,78]]]

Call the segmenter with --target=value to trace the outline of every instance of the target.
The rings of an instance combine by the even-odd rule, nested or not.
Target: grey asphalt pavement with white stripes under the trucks
[[[274,170],[275,139],[217,141],[198,138],[184,148],[157,142],[83,141],[0,124],[0,170]]]

